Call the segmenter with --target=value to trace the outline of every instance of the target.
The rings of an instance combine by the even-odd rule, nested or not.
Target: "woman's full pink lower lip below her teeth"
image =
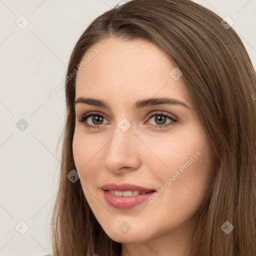
[[[103,190],[103,189],[102,189]],[[138,194],[131,196],[117,196],[103,190],[106,202],[115,208],[127,209],[138,205],[139,203],[147,200],[155,191],[146,194]]]

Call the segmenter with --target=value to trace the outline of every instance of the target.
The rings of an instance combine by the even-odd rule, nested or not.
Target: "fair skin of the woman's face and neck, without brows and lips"
[[[121,256],[189,256],[190,238],[198,221],[195,214],[205,199],[213,163],[213,150],[194,100],[182,76],[174,80],[169,75],[175,65],[153,43],[110,37],[95,43],[82,59],[95,48],[99,52],[77,73],[75,97],[104,100],[110,110],[75,105],[72,147],[84,196],[106,234],[122,243]],[[188,107],[133,107],[137,100],[152,97],[172,97]],[[78,121],[90,111],[103,116],[101,122],[93,116],[84,121],[97,128],[88,129]],[[153,111],[156,115],[149,118]],[[161,111],[178,121],[169,127],[152,127],[171,122],[168,117],[165,122],[157,121]],[[118,126],[123,118],[131,124],[126,131]],[[157,191],[197,151],[200,156],[183,173],[179,171],[155,201],[117,209],[104,200],[100,187],[109,182]],[[123,221],[130,226],[125,234],[118,228]]]

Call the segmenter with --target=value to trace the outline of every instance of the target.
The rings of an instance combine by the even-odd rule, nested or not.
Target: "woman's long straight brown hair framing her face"
[[[256,255],[256,76],[232,27],[190,0],[131,0],[93,20],[71,53],[66,77],[83,54],[109,36],[141,38],[163,49],[182,71],[215,152],[214,170],[191,255]],[[120,256],[121,243],[107,236],[81,188],[67,174],[72,154],[75,77],[65,84],[66,123],[59,187],[51,218],[54,256]],[[226,234],[221,225],[234,229]]]

